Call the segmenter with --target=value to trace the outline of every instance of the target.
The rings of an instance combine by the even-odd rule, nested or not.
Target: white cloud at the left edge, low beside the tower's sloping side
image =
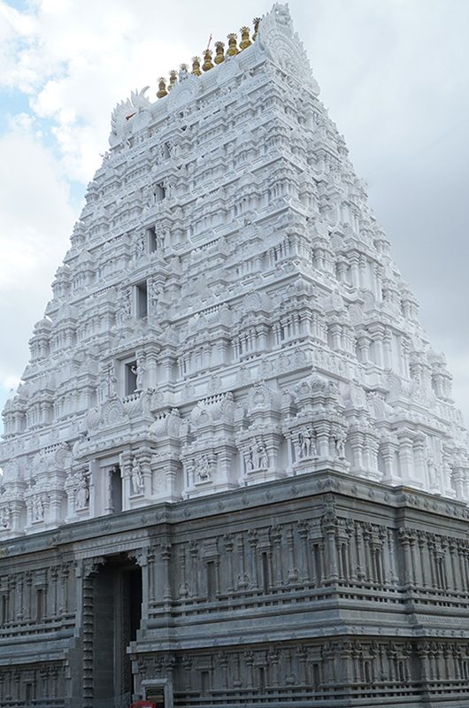
[[[78,214],[62,166],[20,119],[0,137],[0,381],[27,363],[27,340],[50,298],[50,282]]]

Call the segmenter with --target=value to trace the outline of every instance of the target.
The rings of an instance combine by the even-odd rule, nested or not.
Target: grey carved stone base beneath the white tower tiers
[[[4,543],[0,704],[466,705],[468,516],[322,472]]]

